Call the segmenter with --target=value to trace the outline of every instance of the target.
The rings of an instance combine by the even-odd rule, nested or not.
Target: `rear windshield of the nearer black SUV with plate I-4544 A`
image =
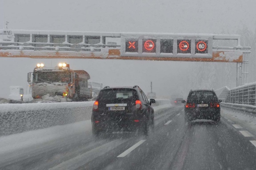
[[[128,88],[114,88],[101,90],[98,96],[98,101],[127,101],[138,100],[137,91]]]

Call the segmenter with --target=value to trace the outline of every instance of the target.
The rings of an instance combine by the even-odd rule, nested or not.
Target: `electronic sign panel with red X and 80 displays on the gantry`
[[[121,33],[120,55],[212,58],[212,40],[212,34]]]

